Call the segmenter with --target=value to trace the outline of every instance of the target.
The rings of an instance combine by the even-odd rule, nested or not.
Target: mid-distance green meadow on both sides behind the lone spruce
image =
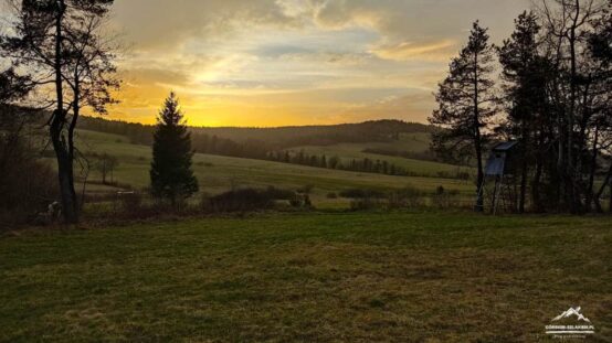
[[[122,136],[83,130],[78,132],[78,143],[83,151],[107,152],[117,157],[120,164],[114,173],[116,181],[137,189],[148,186],[150,147],[130,144]],[[430,162],[421,161],[421,163],[426,165]],[[439,185],[443,185],[468,196],[474,192],[474,185],[469,181],[390,176],[200,153],[193,157],[193,170],[201,190],[208,193],[223,192],[232,186],[274,185],[297,189],[314,185],[313,201],[321,206],[337,205],[337,200],[326,199],[327,193],[350,187],[389,190],[412,185],[425,191],[433,191]],[[99,180],[101,176],[94,171],[91,178]]]

